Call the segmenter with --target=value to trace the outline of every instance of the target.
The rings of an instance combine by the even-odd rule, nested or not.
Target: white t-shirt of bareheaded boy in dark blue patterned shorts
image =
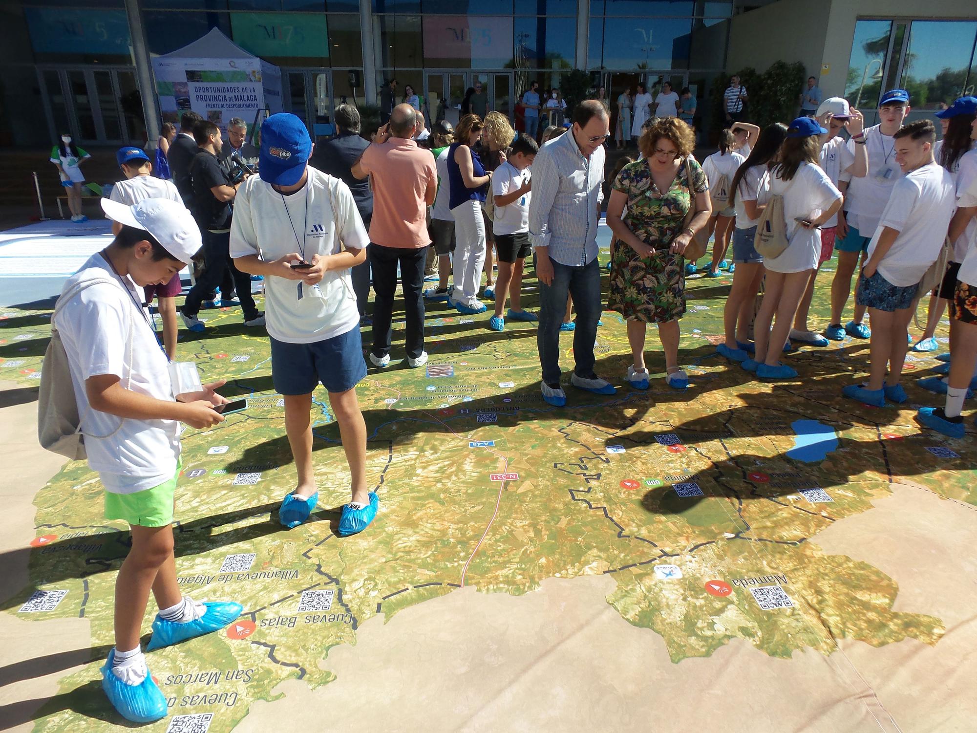
[[[926,274],[947,238],[955,199],[954,181],[937,162],[916,168],[896,182],[869,242],[871,257],[883,227],[899,231],[878,263],[883,278],[899,287],[909,287]]]

